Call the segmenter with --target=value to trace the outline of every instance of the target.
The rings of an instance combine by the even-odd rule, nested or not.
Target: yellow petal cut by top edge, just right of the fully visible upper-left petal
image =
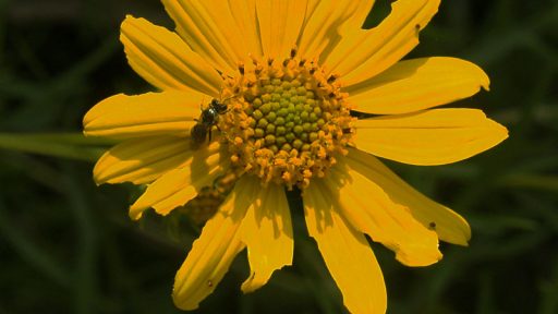
[[[222,0],[162,0],[187,45],[221,73],[234,75],[238,62],[250,51],[250,38],[242,37],[232,3]],[[248,2],[247,2],[248,3]]]

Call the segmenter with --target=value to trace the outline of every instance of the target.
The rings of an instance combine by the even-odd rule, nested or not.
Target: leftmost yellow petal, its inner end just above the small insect
[[[187,135],[199,117],[203,94],[182,90],[123,94],[95,105],[84,117],[85,135],[133,138],[154,135]]]

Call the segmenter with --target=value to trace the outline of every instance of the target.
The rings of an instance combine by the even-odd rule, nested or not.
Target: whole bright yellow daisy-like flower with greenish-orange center
[[[223,174],[239,178],[177,274],[178,307],[196,309],[244,249],[244,292],[291,265],[283,186],[302,192],[308,233],[352,313],[387,309],[365,234],[408,266],[438,262],[438,240],[466,245],[461,216],[373,155],[445,165],[504,141],[507,130],[481,110],[433,109],[487,89],[488,77],[454,58],[400,61],[439,0],[396,1],[381,24],[361,29],[373,2],[162,0],[175,33],[122,23],[131,67],[160,92],[116,95],[85,116],[85,134],[122,140],[97,162],[96,182],[148,184],[130,208],[138,219],[151,207],[169,214]]]

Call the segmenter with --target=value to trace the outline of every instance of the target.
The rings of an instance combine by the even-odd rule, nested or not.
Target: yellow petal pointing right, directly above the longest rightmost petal
[[[449,104],[488,89],[489,80],[475,64],[456,58],[401,61],[363,84],[347,86],[348,101],[374,114],[409,113]]]

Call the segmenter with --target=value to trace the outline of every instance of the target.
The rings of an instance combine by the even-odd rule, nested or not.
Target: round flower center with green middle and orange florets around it
[[[218,126],[231,161],[264,183],[305,188],[347,154],[353,129],[338,80],[314,61],[253,60],[226,78],[228,111]]]

